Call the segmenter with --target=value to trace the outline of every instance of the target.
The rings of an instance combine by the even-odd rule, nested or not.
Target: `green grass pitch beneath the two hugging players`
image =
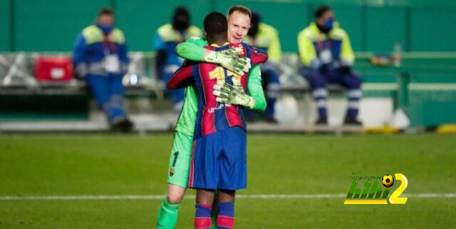
[[[171,134],[3,134],[0,197],[161,195],[171,142]],[[455,142],[455,135],[430,134],[253,134],[248,137],[248,189],[239,193],[346,194],[351,173],[403,173],[408,178],[404,194],[456,193]],[[239,199],[235,228],[456,225],[456,198],[408,198],[405,205],[343,205],[343,200]],[[182,203],[177,228],[193,228],[194,201]],[[155,228],[159,204],[160,200],[0,200],[0,228]]]

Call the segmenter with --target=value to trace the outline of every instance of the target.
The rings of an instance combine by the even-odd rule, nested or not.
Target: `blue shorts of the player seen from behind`
[[[247,136],[239,126],[193,141],[189,188],[247,188]]]

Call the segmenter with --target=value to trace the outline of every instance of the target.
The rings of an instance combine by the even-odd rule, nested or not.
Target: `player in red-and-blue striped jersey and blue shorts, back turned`
[[[211,44],[206,49],[222,51],[231,46],[254,64],[267,60],[266,54],[254,51],[247,44],[228,44],[227,19],[219,12],[206,16],[204,32]],[[189,187],[197,189],[195,228],[211,228],[214,190],[218,190],[219,200],[217,228],[234,228],[234,195],[236,190],[247,188],[247,130],[239,108],[253,108],[255,103],[254,98],[244,93],[248,76],[244,73],[241,77],[214,63],[195,63],[180,68],[167,86],[179,88],[188,84],[190,79],[195,83],[198,96],[189,178]],[[242,92],[230,96],[229,91],[214,90],[224,83],[240,88]],[[222,98],[214,96],[221,96],[221,93]]]

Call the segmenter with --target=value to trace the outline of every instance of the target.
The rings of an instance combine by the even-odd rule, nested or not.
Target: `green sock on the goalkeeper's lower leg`
[[[157,229],[174,229],[177,224],[177,215],[180,203],[170,203],[165,198],[158,209]]]

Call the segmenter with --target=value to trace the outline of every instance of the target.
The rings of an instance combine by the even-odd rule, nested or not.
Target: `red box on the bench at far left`
[[[39,57],[35,61],[35,78],[38,81],[71,81],[73,63],[71,58]]]

